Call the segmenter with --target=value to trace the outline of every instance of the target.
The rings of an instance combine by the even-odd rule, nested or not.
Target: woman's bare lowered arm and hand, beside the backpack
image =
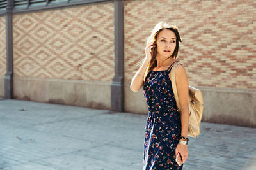
[[[181,64],[175,67],[175,80],[177,86],[177,93],[180,103],[180,118],[181,118],[181,136],[188,138],[188,118],[189,118],[189,107],[188,107],[188,77],[184,66]],[[183,140],[183,139],[181,139]],[[178,143],[175,153],[180,152],[182,157],[182,164],[188,158],[188,147],[187,145]]]

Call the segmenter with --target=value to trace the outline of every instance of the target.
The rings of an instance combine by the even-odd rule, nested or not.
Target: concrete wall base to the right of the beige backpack
[[[205,122],[256,127],[255,92],[221,91],[213,88],[202,90],[204,95]]]

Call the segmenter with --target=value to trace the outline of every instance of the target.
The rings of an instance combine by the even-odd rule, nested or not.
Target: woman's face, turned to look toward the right
[[[176,36],[170,29],[163,29],[157,34],[157,54],[163,57],[170,57],[176,47]]]

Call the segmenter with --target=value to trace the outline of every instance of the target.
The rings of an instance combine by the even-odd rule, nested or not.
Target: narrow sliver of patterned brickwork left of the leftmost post
[[[0,17],[0,76],[6,73],[6,32],[5,16]]]

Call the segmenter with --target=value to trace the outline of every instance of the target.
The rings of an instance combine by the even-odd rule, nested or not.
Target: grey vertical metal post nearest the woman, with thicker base
[[[111,110],[124,111],[124,0],[115,0],[115,76],[111,84]]]

